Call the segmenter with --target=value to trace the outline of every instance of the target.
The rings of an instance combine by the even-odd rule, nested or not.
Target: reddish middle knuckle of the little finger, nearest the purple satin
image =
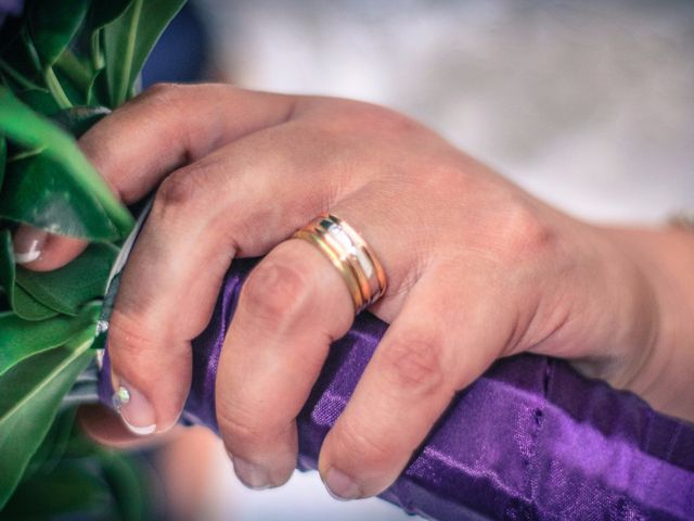
[[[398,390],[429,394],[444,381],[442,342],[433,333],[394,339],[383,346],[384,376]]]

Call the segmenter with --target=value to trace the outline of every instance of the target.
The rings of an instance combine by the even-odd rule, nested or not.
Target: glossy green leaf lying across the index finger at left
[[[34,153],[21,160],[9,158],[0,192],[0,216],[85,239],[117,240],[126,236],[132,217],[73,137],[1,87],[0,107],[0,132]]]

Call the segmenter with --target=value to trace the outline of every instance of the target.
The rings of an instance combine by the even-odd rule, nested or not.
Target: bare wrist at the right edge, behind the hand
[[[674,228],[604,230],[642,274],[653,300],[633,305],[641,308],[637,322],[650,315],[645,320],[653,321],[653,333],[634,339],[625,366],[629,369],[617,386],[658,410],[694,421],[694,233]]]

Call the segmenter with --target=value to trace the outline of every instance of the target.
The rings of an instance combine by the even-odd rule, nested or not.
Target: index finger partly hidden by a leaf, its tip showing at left
[[[296,98],[226,85],[160,85],[91,128],[82,152],[126,204],[149,193],[171,170],[226,143],[279,125]],[[55,269],[72,260],[83,241],[21,226],[15,257],[30,269]]]

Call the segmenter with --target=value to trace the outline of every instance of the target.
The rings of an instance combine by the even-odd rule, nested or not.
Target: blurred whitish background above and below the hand
[[[395,107],[586,219],[694,209],[689,0],[193,0],[157,52],[145,82],[188,71]],[[377,499],[337,503],[314,472],[245,491],[213,436],[180,445],[207,447],[168,466],[181,474],[171,500],[195,519],[408,519]]]

